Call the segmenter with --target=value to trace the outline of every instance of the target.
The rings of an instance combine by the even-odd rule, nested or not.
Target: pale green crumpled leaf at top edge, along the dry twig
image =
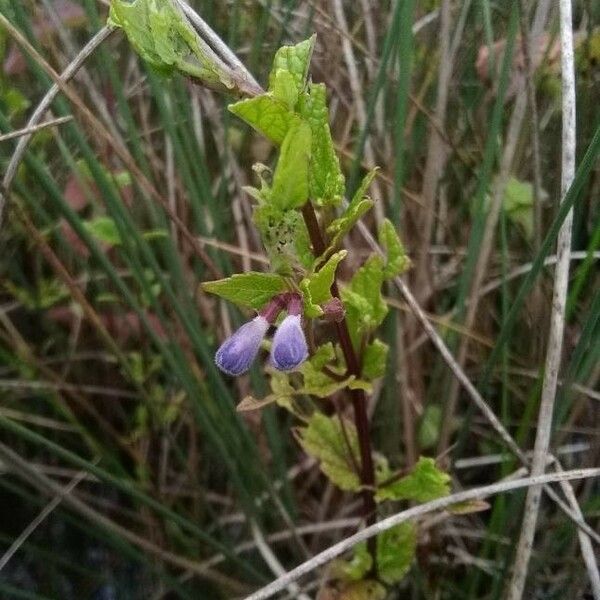
[[[174,0],[112,0],[108,22],[122,28],[138,54],[159,72],[178,70],[211,87],[234,88]]]

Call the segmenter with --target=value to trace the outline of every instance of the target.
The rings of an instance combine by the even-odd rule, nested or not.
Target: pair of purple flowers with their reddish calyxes
[[[302,300],[296,294],[281,294],[221,344],[215,355],[215,363],[221,371],[237,376],[250,368],[263,338],[284,305],[288,314],[273,336],[270,362],[280,371],[291,371],[306,360],[308,347],[302,331]]]

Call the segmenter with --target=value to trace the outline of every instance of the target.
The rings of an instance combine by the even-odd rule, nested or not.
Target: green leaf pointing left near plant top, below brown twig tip
[[[230,104],[229,110],[276,144],[283,142],[295,118],[285,102],[271,93]]]

